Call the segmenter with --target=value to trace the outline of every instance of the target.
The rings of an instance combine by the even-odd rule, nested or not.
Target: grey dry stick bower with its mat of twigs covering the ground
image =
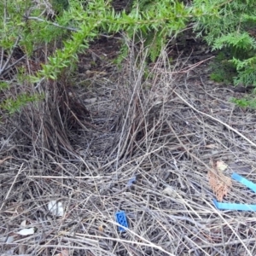
[[[13,157],[0,172],[1,255],[256,254],[253,213],[216,210],[207,180],[210,160],[224,160],[227,176],[253,181],[255,114],[227,102],[224,88],[196,85],[192,71],[174,75],[164,53],[145,79],[143,52],[132,49],[116,83],[87,91],[87,102],[97,94],[90,106],[64,82],[49,84],[42,106],[1,127],[2,159]],[[225,200],[254,198],[235,183]],[[62,217],[49,211],[53,200]],[[33,235],[15,235],[24,220]]]

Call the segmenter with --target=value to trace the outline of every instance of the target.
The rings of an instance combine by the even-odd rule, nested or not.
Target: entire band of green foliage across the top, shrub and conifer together
[[[230,61],[238,73],[235,83],[254,84],[256,43],[249,29],[256,23],[255,7],[256,3],[248,0],[195,0],[186,6],[177,0],[135,0],[131,12],[115,13],[105,0],[3,1],[0,47],[8,55],[19,47],[24,55],[32,56],[38,47],[58,45],[53,52],[49,51],[48,59],[41,63],[37,73],[20,73],[35,83],[59,79],[63,73],[73,70],[79,53],[88,49],[90,42],[102,33],[123,32],[128,38],[137,38],[137,42],[148,48],[150,60],[155,61],[166,41],[177,37],[194,21],[198,35],[205,36],[212,49],[230,50]],[[54,14],[54,19],[48,14]],[[119,60],[126,52],[123,46]],[[212,79],[221,78],[212,74]],[[26,99],[30,102],[24,96],[18,102]]]

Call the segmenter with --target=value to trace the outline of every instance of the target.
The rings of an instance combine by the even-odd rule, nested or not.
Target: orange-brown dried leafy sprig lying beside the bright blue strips
[[[223,201],[224,195],[228,195],[232,186],[230,177],[224,176],[223,173],[215,174],[208,172],[209,183],[213,193],[216,195],[218,201]]]

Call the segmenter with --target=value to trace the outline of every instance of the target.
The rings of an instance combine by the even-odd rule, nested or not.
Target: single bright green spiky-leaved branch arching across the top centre
[[[147,12],[143,9],[133,9],[130,14],[125,11],[116,14],[110,4],[97,0],[89,1],[85,12],[82,6],[70,4],[68,13],[64,12],[64,15],[68,20],[72,20],[73,26],[78,27],[77,32],[73,32],[71,37],[64,41],[63,49],[56,50],[55,56],[49,57],[48,64],[38,73],[40,78],[56,79],[63,68],[77,61],[77,54],[87,49],[90,41],[97,38],[102,31],[123,31],[130,38],[135,34],[146,40],[149,38],[148,53],[154,60],[166,38],[186,26],[189,9],[185,9],[183,3],[164,0],[151,4]],[[154,37],[150,37],[152,33]]]

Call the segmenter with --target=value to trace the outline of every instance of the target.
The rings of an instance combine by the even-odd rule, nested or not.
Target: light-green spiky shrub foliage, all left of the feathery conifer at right
[[[36,73],[27,74],[25,67],[17,68],[17,78],[31,81],[33,86],[42,79],[59,79],[73,69],[78,54],[88,49],[102,32],[124,32],[129,38],[139,35],[148,42],[148,55],[155,60],[167,37],[186,26],[190,9],[174,0],[152,1],[147,8],[143,5],[131,9],[129,14],[115,13],[105,0],[6,0],[0,3],[0,13],[0,47],[7,55],[19,48],[30,58],[40,47],[51,49],[53,44],[58,45],[52,53],[49,51],[47,61],[40,63],[42,68]],[[122,52],[125,54],[125,48]],[[34,97],[21,93],[6,99],[2,108],[12,113],[33,100]]]

